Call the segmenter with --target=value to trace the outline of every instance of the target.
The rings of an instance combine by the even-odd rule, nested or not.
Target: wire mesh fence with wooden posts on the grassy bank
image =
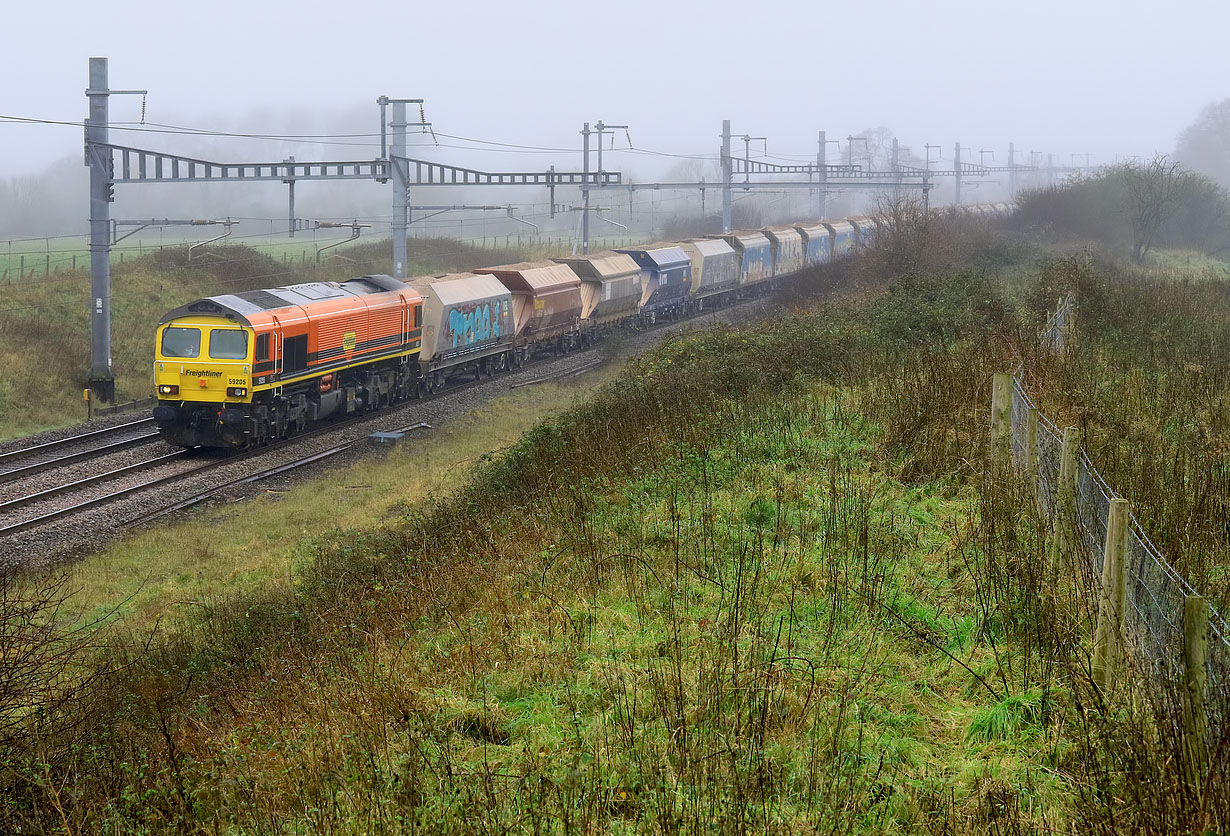
[[[1075,316],[1069,295],[1041,333],[1044,349],[1068,350]],[[1076,429],[1061,430],[1038,411],[1023,369],[998,377],[1001,403],[991,412],[1001,424],[993,439],[1036,487],[1054,559],[1073,563],[1065,569],[1096,606],[1095,679],[1106,686],[1130,670],[1176,709],[1176,732],[1204,745],[1220,738],[1230,722],[1230,626],[1153,543],[1079,446]]]

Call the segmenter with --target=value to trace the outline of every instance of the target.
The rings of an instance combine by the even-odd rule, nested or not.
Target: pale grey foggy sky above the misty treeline
[[[1086,151],[1108,162],[1170,151],[1203,104],[1230,96],[1230,4],[1214,0],[44,0],[6,4],[5,23],[5,116],[80,120],[87,59],[106,55],[113,89],[149,89],[148,120],[260,133],[374,133],[384,93],[426,98],[439,133],[512,144],[579,148],[581,124],[604,119],[630,124],[637,148],[712,154],[729,118],[737,134],[768,135],[771,155],[814,155],[819,129],[844,139],[887,125],[916,150],[941,144],[946,160],[961,141],[1002,162],[1015,140],[1018,162],[1031,150],[1057,164]],[[112,100],[113,120],[139,113],[139,97]],[[154,134],[112,141],[200,145]],[[255,152],[209,141],[219,161]],[[358,144],[299,156],[378,152],[373,139],[348,141]],[[288,148],[257,146],[271,159]],[[80,149],[80,128],[0,123],[0,176]],[[561,162],[464,156],[491,168]],[[670,162],[609,159],[652,176]]]

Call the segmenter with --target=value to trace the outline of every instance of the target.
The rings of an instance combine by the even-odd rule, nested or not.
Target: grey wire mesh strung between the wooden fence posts
[[[1074,304],[1069,295],[1047,321],[1041,334],[1044,350],[1065,349]],[[1023,370],[1018,369],[1014,375],[1011,443],[1014,461],[1021,470],[1030,463],[1028,413],[1036,408],[1025,388]],[[1053,524],[1059,499],[1063,432],[1041,412],[1033,444],[1038,505],[1044,519]],[[1086,600],[1096,600],[1101,589],[1106,526],[1111,499],[1116,497],[1082,449],[1076,476],[1076,551],[1081,558],[1076,568],[1077,583]],[[1166,561],[1134,514],[1129,515],[1124,559],[1127,595],[1123,627],[1128,652],[1135,660],[1137,670],[1148,676],[1151,685],[1175,693],[1183,682],[1183,602],[1188,595],[1197,593]],[[1230,722],[1230,626],[1212,607],[1208,638],[1205,701],[1212,730],[1220,734]]]

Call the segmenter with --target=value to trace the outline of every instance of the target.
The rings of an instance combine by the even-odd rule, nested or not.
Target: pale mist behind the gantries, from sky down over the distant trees
[[[54,27],[55,37],[14,38],[0,54],[9,79],[0,109],[36,120],[0,120],[0,236],[85,231],[80,120],[91,55],[109,58],[113,89],[149,91],[112,97],[116,144],[219,162],[374,159],[375,98],[390,95],[426,100],[432,124],[412,133],[412,157],[486,171],[579,170],[582,124],[605,119],[629,125],[606,135],[603,161],[625,182],[716,182],[722,119],[737,136],[766,136],[749,156],[774,162],[814,160],[819,130],[833,143],[828,161],[871,167],[888,164],[894,136],[903,164],[936,168],[951,167],[958,141],[967,162],[999,166],[1010,143],[1018,165],[1060,168],[1168,152],[1200,108],[1226,95],[1219,55],[1230,23],[1223,5],[1175,2],[1159,26],[1155,5],[1108,0],[755,10],[462,0],[376,2],[362,15],[316,1],[223,0],[191,20],[151,0],[108,10],[93,20],[97,12],[53,0],[9,11],[12,31]],[[418,117],[412,108],[411,120]],[[736,141],[734,154],[743,150]],[[995,177],[966,188],[967,202],[1007,193]],[[387,232],[386,186],[296,189],[301,219],[363,220]],[[277,183],[119,184],[116,193],[119,219],[231,218],[250,235],[287,226],[287,189]],[[932,192],[937,203],[952,197],[943,181]],[[711,211],[716,199],[716,191],[705,205],[696,191],[595,194],[606,210],[595,224],[661,226],[674,214]],[[737,199],[765,216],[815,214],[806,193]],[[873,199],[833,193],[830,205],[859,210]],[[557,204],[578,200],[576,189],[557,191]],[[413,234],[563,232],[576,220],[552,218],[542,188],[415,188],[411,202],[510,205],[528,221],[496,210],[418,213]]]

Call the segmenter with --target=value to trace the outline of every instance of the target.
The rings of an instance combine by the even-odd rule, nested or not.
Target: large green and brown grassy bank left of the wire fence
[[[738,429],[705,449],[594,478],[515,541],[471,551],[486,577],[437,626],[360,617],[365,638],[306,679],[262,659],[234,711],[209,698],[176,723],[193,815],[289,832],[569,816],[616,832],[914,832],[951,787],[950,814],[977,818],[983,782],[961,775],[1023,784],[1041,756],[966,747],[985,692],[881,606],[934,612],[913,599],[919,578],[962,606],[969,589],[937,556],[972,497],[903,516],[913,492],[873,466],[878,429],[847,397],[729,404]],[[966,658],[989,657],[979,641]],[[159,767],[130,757],[124,779],[145,784]],[[1036,824],[1061,826],[1070,791],[1037,795]],[[101,824],[156,827],[135,810]]]

